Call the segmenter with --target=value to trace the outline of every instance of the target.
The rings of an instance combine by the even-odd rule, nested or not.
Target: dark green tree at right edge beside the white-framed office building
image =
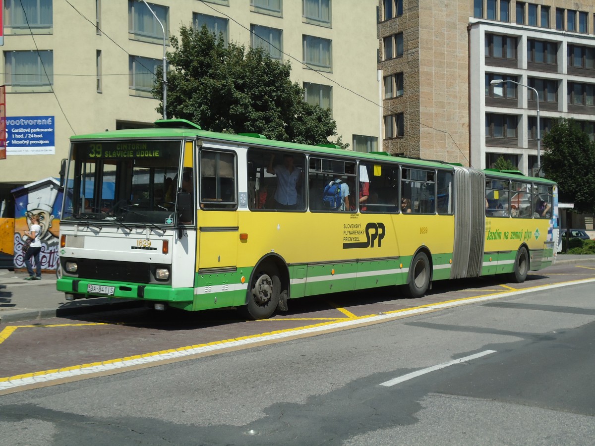
[[[595,146],[576,121],[561,119],[543,137],[546,177],[556,181],[563,201],[577,212],[595,211]]]

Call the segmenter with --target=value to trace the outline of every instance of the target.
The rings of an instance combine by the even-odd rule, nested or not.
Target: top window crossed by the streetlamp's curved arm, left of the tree
[[[170,35],[168,26],[169,8],[152,3],[149,3],[149,6],[161,21],[165,29],[165,41],[168,42]],[[128,2],[128,32],[137,40],[163,41],[161,25],[155,20],[149,8],[140,0],[129,0]]]

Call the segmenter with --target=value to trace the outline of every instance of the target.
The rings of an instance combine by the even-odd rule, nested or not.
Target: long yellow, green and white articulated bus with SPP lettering
[[[492,274],[522,282],[555,257],[556,184],[519,172],[184,120],[74,136],[65,170],[67,300],[262,319],[303,296],[400,285],[421,297],[432,281]]]

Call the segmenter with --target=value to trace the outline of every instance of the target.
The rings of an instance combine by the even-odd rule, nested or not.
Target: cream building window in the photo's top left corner
[[[4,26],[39,30],[52,27],[52,0],[6,0]]]

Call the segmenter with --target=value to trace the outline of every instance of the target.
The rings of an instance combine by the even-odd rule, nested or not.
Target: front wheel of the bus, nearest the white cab
[[[275,312],[281,293],[281,279],[271,263],[258,266],[248,288],[248,301],[243,313],[249,319],[267,319]]]

